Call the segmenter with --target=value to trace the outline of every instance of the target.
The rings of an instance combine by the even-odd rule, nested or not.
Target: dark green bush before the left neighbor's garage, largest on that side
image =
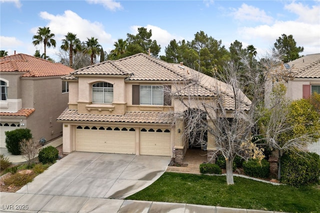
[[[14,155],[21,154],[20,142],[22,139],[29,140],[32,138],[31,130],[28,128],[17,128],[5,132],[5,146],[9,152]]]

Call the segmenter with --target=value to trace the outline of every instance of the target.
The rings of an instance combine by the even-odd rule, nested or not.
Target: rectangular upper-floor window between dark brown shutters
[[[140,104],[163,105],[163,86],[140,85]]]

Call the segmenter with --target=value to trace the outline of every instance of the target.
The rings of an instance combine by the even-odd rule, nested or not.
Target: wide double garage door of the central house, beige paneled
[[[135,129],[112,126],[77,126],[76,151],[135,154]]]

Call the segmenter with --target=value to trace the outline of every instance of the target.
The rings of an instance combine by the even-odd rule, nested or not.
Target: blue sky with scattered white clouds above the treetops
[[[320,53],[320,0],[0,0],[0,49],[9,55],[43,53],[32,36],[44,26],[55,34],[56,47],[46,50],[55,61],[67,32],[98,38],[109,52],[141,26],[151,29],[159,55],[170,40],[191,41],[200,30],[227,49],[235,40],[252,44],[257,59],[283,33],[304,47],[300,55]]]

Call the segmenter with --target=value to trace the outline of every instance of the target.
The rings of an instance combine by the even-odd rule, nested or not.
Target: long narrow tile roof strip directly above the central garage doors
[[[65,109],[56,120],[170,123],[170,112],[127,111],[124,115],[78,114],[77,110]]]

